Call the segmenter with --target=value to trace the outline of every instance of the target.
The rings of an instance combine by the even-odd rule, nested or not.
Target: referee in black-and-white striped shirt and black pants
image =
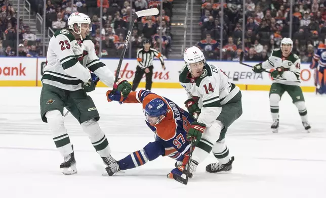
[[[146,75],[146,89],[150,90],[152,87],[152,76],[153,76],[153,59],[157,57],[161,62],[162,69],[166,69],[164,66],[164,60],[157,50],[150,48],[150,40],[145,38],[143,40],[143,48],[137,52],[137,68],[135,78],[133,80],[132,90],[135,91],[142,79],[144,73]]]

